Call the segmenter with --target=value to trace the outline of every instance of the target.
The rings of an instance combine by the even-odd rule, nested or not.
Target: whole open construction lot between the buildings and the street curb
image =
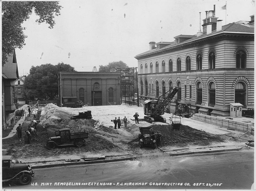
[[[102,154],[106,156],[118,155],[138,155],[145,152],[154,153],[164,150],[179,150],[179,148],[189,148],[198,146],[221,146],[221,145],[243,145],[245,140],[253,140],[251,132],[228,130],[201,121],[180,117],[179,129],[172,129],[173,114],[164,113],[162,116],[166,122],[155,121],[153,123],[144,120],[143,107],[130,106],[128,104],[116,106],[85,106],[81,108],[58,107],[48,104],[39,107],[34,113],[40,110],[40,118],[36,128],[37,136],[32,135],[31,143],[26,143],[24,130],[28,129],[33,117],[23,118],[22,139],[18,139],[17,133],[10,138],[2,140],[2,148],[6,149],[8,155],[15,158],[49,158],[59,155],[84,156]],[[71,120],[73,115],[79,112],[91,111],[92,119]],[[133,115],[139,114],[139,123],[135,123]],[[120,129],[114,129],[113,120],[115,117],[121,119],[127,117],[127,127],[124,127],[123,120]],[[140,148],[139,133],[140,127],[151,127],[154,132],[162,134],[161,143],[156,149]],[[88,138],[81,147],[57,146],[49,150],[45,144],[47,139],[55,137],[55,131],[68,128],[72,132],[88,132]],[[15,131],[16,128],[13,130]],[[15,132],[14,132],[15,133]],[[227,136],[228,135],[228,136]],[[241,136],[241,137],[239,137]],[[239,137],[239,138],[238,138]],[[242,139],[241,139],[242,138]],[[248,147],[249,148],[249,147]]]

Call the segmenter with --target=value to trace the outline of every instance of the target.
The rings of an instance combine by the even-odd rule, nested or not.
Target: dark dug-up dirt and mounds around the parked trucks
[[[23,136],[18,139],[17,133],[7,139],[2,140],[2,148],[7,149],[9,155],[15,158],[28,157],[53,157],[60,154],[64,155],[84,155],[90,154],[105,154],[108,156],[122,155],[133,153],[141,153],[139,147],[139,126],[132,121],[128,121],[127,127],[121,126],[121,129],[114,129],[111,124],[107,125],[99,121],[91,120],[70,120],[72,114],[65,111],[54,104],[48,104],[45,107],[45,113],[40,118],[40,123],[37,126],[38,136],[33,135],[31,144],[24,141],[25,130],[28,129],[29,122],[22,124]],[[108,108],[106,108],[108,109]],[[28,119],[26,119],[28,120]],[[139,121],[143,121],[140,119]],[[182,147],[185,145],[208,145],[212,142],[225,142],[222,136],[211,135],[209,133],[193,129],[189,126],[181,125],[180,130],[171,130],[170,125],[154,124],[154,131],[159,131],[162,134],[162,146]],[[54,150],[45,148],[45,143],[49,137],[55,136],[55,131],[62,128],[69,128],[71,132],[88,131],[89,136],[83,147],[62,146]],[[150,151],[150,149],[148,149]]]

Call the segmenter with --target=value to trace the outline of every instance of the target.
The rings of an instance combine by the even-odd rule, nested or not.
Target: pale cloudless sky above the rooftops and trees
[[[22,26],[26,45],[16,49],[19,76],[32,66],[63,62],[76,71],[123,61],[138,67],[134,56],[149,50],[149,42],[195,35],[205,11],[213,10],[222,25],[246,20],[254,14],[253,0],[60,0],[55,26],[35,22],[33,13]],[[227,3],[227,9],[222,6]],[[227,16],[226,15],[227,12]],[[201,30],[203,30],[201,26]]]

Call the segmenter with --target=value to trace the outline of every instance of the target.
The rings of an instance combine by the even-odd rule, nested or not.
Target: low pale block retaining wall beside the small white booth
[[[254,124],[234,121],[231,119],[223,119],[215,116],[204,115],[204,114],[194,114],[191,119],[202,121],[205,123],[210,123],[212,125],[217,125],[227,129],[234,129],[241,132],[246,132],[250,129],[254,129]],[[254,134],[254,131],[251,131]],[[250,133],[250,132],[249,132]]]

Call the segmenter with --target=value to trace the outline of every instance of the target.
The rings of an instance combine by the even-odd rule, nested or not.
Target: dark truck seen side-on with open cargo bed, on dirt
[[[75,145],[76,147],[81,147],[85,143],[85,139],[88,138],[88,132],[76,132],[71,133],[70,129],[63,128],[55,131],[55,136],[50,137],[45,147],[49,150],[55,149],[56,146],[66,146],[66,145]]]

